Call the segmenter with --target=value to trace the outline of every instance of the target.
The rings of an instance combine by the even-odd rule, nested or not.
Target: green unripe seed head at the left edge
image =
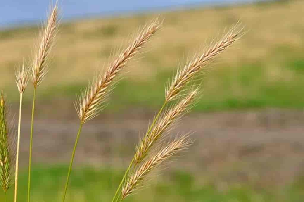
[[[0,94],[0,185],[5,193],[12,184],[11,166],[6,106],[3,94]]]

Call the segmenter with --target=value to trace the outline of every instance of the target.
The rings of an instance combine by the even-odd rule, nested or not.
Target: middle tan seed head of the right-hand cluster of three
[[[162,118],[156,123],[155,127],[147,134],[136,149],[134,156],[135,165],[139,164],[148,154],[149,149],[155,142],[163,136],[168,128],[172,127],[195,103],[195,98],[199,95],[199,87],[189,92],[185,98],[181,99],[175,106],[171,107]]]

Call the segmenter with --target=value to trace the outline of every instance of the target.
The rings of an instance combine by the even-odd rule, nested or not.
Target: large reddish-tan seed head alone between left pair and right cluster
[[[158,19],[153,20],[149,25],[145,26],[126,50],[120,53],[109,65],[104,74],[97,77],[95,82],[80,96],[76,103],[76,110],[81,123],[85,123],[98,115],[100,110],[102,110],[102,103],[105,102],[105,99],[111,92],[111,87],[115,84],[115,78],[119,71],[147,44],[148,40],[160,26],[161,23]]]

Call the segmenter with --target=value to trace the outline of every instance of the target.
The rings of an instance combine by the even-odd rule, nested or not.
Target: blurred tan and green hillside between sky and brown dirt
[[[204,97],[196,109],[303,107],[304,93],[299,93],[304,88],[303,10],[304,2],[294,0],[63,23],[51,70],[38,95],[71,104],[80,87],[108,63],[111,53],[123,47],[138,26],[161,15],[164,28],[128,66],[110,109],[159,105],[164,84],[178,64],[239,19],[246,25],[246,34],[212,64],[214,71],[204,79]],[[14,69],[29,59],[37,35],[37,27],[0,32],[0,88],[11,100],[18,96]]]

